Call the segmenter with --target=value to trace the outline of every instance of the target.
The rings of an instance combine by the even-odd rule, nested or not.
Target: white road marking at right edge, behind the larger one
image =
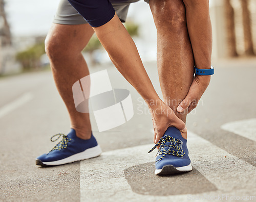
[[[256,118],[229,122],[222,125],[221,129],[256,141]]]

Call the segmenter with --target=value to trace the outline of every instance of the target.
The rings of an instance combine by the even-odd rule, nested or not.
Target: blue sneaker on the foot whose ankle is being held
[[[188,157],[187,140],[177,128],[169,127],[159,142],[148,152],[152,152],[161,142],[156,158],[156,174],[175,174],[192,170]]]

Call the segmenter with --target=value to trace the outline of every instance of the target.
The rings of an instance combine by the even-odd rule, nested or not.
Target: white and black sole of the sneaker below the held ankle
[[[158,175],[177,174],[182,172],[189,172],[192,170],[191,164],[183,167],[174,167],[173,165],[163,166],[162,169],[156,169],[155,173]]]

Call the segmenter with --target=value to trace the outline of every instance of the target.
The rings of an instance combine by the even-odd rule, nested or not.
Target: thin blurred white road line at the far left
[[[33,95],[31,92],[24,93],[17,99],[15,99],[13,102],[3,106],[0,108],[0,118],[3,118],[5,115],[11,113],[15,109],[23,106],[27,102],[29,102],[33,98]]]

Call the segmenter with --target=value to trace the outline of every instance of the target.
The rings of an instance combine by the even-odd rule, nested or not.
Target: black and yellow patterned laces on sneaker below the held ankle
[[[148,151],[148,153],[151,153],[155,148],[157,148],[160,142],[161,145],[157,154],[159,153],[159,155],[163,156],[161,156],[157,161],[161,161],[167,154],[177,157],[183,157],[185,155],[183,149],[181,149],[181,140],[175,139],[174,137],[170,137],[168,135],[161,137],[159,142],[150,151]],[[168,149],[166,150],[165,147],[168,147]],[[172,148],[175,148],[176,151],[171,150]]]

